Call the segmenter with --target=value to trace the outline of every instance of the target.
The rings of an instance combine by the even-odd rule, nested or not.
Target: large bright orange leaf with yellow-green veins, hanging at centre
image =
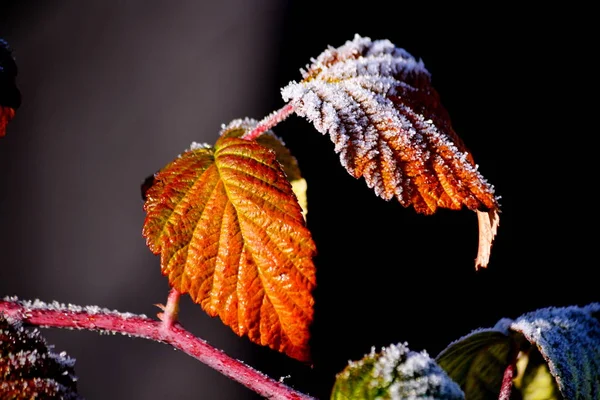
[[[209,315],[309,361],[315,244],[275,152],[232,136],[155,174],[143,235],[171,286]]]

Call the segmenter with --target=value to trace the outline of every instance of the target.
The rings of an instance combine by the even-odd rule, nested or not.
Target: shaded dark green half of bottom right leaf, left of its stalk
[[[492,329],[477,329],[454,341],[436,358],[469,400],[497,400],[504,370],[511,363],[508,320]]]

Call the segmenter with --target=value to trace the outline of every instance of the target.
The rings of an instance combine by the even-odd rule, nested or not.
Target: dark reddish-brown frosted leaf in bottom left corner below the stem
[[[80,399],[74,364],[65,353],[52,352],[38,330],[0,314],[0,398]]]

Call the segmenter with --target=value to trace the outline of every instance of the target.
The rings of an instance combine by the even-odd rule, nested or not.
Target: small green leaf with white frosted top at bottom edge
[[[340,372],[332,400],[464,399],[464,393],[426,352],[390,345],[351,361]]]

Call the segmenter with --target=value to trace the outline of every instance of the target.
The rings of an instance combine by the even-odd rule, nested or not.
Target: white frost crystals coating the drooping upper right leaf
[[[459,191],[478,185],[493,195],[493,186],[470,164],[468,153],[412,108],[413,99],[419,103],[430,95],[430,74],[422,60],[389,40],[355,35],[339,48],[329,46],[301,73],[303,81],[282,88],[283,99],[317,131],[330,135],[342,166],[355,178],[364,177],[378,196],[408,204],[410,194],[403,189],[411,178],[403,175],[402,166],[436,176],[434,164],[473,177],[456,179]]]

